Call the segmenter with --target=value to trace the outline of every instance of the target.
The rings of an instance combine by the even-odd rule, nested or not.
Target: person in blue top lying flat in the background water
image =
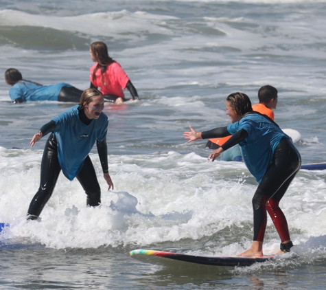
[[[9,96],[14,103],[27,101],[79,102],[82,91],[72,85],[60,82],[56,85],[43,86],[37,82],[24,80],[18,69],[5,71],[5,82],[12,86]]]

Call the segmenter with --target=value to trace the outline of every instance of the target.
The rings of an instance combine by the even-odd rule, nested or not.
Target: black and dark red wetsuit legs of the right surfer
[[[267,214],[270,214],[282,241],[290,239],[286,217],[279,208],[279,201],[301,167],[301,157],[294,144],[284,138],[275,149],[272,164],[268,166],[253,197],[253,241],[264,241]]]

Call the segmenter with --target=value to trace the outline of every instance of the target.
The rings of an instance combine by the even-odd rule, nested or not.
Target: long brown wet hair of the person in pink
[[[92,80],[95,80],[96,71],[101,69],[101,76],[102,76],[102,84],[104,85],[104,77],[103,74],[106,71],[106,67],[113,63],[115,60],[108,56],[108,47],[102,41],[95,41],[95,43],[91,44],[91,53],[93,54],[95,60],[97,61],[97,66],[93,71]]]

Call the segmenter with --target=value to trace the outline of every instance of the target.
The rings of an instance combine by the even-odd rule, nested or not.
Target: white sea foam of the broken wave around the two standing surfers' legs
[[[233,229],[243,245],[216,243],[213,253],[231,254],[251,241],[251,198],[257,185],[244,164],[175,152],[109,156],[115,191],[106,191],[96,155],[91,155],[102,188],[102,205],[89,208],[78,181],[60,175],[42,221],[26,221],[38,188],[41,151],[1,150],[0,219],[10,223],[7,238],[47,247],[149,245],[198,240]],[[19,158],[18,158],[19,155]],[[5,169],[4,169],[5,168]],[[326,216],[325,175],[299,173],[281,201],[293,241],[306,243],[323,232]],[[246,225],[246,226],[245,226]],[[268,221],[266,249],[276,251],[277,232]],[[300,234],[296,234],[300,232]],[[243,238],[246,236],[247,238]],[[233,247],[231,245],[234,245]]]

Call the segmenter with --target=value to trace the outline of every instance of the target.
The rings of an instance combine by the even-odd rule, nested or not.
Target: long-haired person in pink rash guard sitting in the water
[[[137,90],[132,85],[124,69],[108,56],[108,47],[102,41],[95,41],[89,49],[95,65],[91,67],[91,88],[100,89],[108,102],[122,104],[127,99],[124,89],[128,89],[132,100],[139,100]]]

